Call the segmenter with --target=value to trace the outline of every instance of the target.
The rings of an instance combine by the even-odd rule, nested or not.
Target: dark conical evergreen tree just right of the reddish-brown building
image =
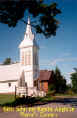
[[[66,80],[58,67],[54,71],[54,85],[56,93],[64,93],[66,91]]]

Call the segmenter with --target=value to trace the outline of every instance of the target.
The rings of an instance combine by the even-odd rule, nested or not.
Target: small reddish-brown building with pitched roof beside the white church
[[[48,92],[48,86],[54,82],[54,73],[53,71],[40,70],[40,75],[38,81],[35,82],[35,85],[39,90]]]

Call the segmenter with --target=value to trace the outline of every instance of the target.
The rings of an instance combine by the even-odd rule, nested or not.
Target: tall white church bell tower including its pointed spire
[[[39,75],[39,47],[32,33],[30,18],[28,18],[24,40],[19,48],[21,71],[24,71],[25,83],[28,87],[34,87],[34,80],[37,80]]]

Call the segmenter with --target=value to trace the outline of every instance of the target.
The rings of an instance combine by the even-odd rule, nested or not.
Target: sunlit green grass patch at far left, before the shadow
[[[11,94],[0,94],[0,105],[11,103],[15,100],[14,95]]]

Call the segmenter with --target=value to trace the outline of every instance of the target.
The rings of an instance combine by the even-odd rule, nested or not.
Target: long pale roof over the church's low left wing
[[[0,82],[16,81],[20,78],[20,63],[0,65]]]

